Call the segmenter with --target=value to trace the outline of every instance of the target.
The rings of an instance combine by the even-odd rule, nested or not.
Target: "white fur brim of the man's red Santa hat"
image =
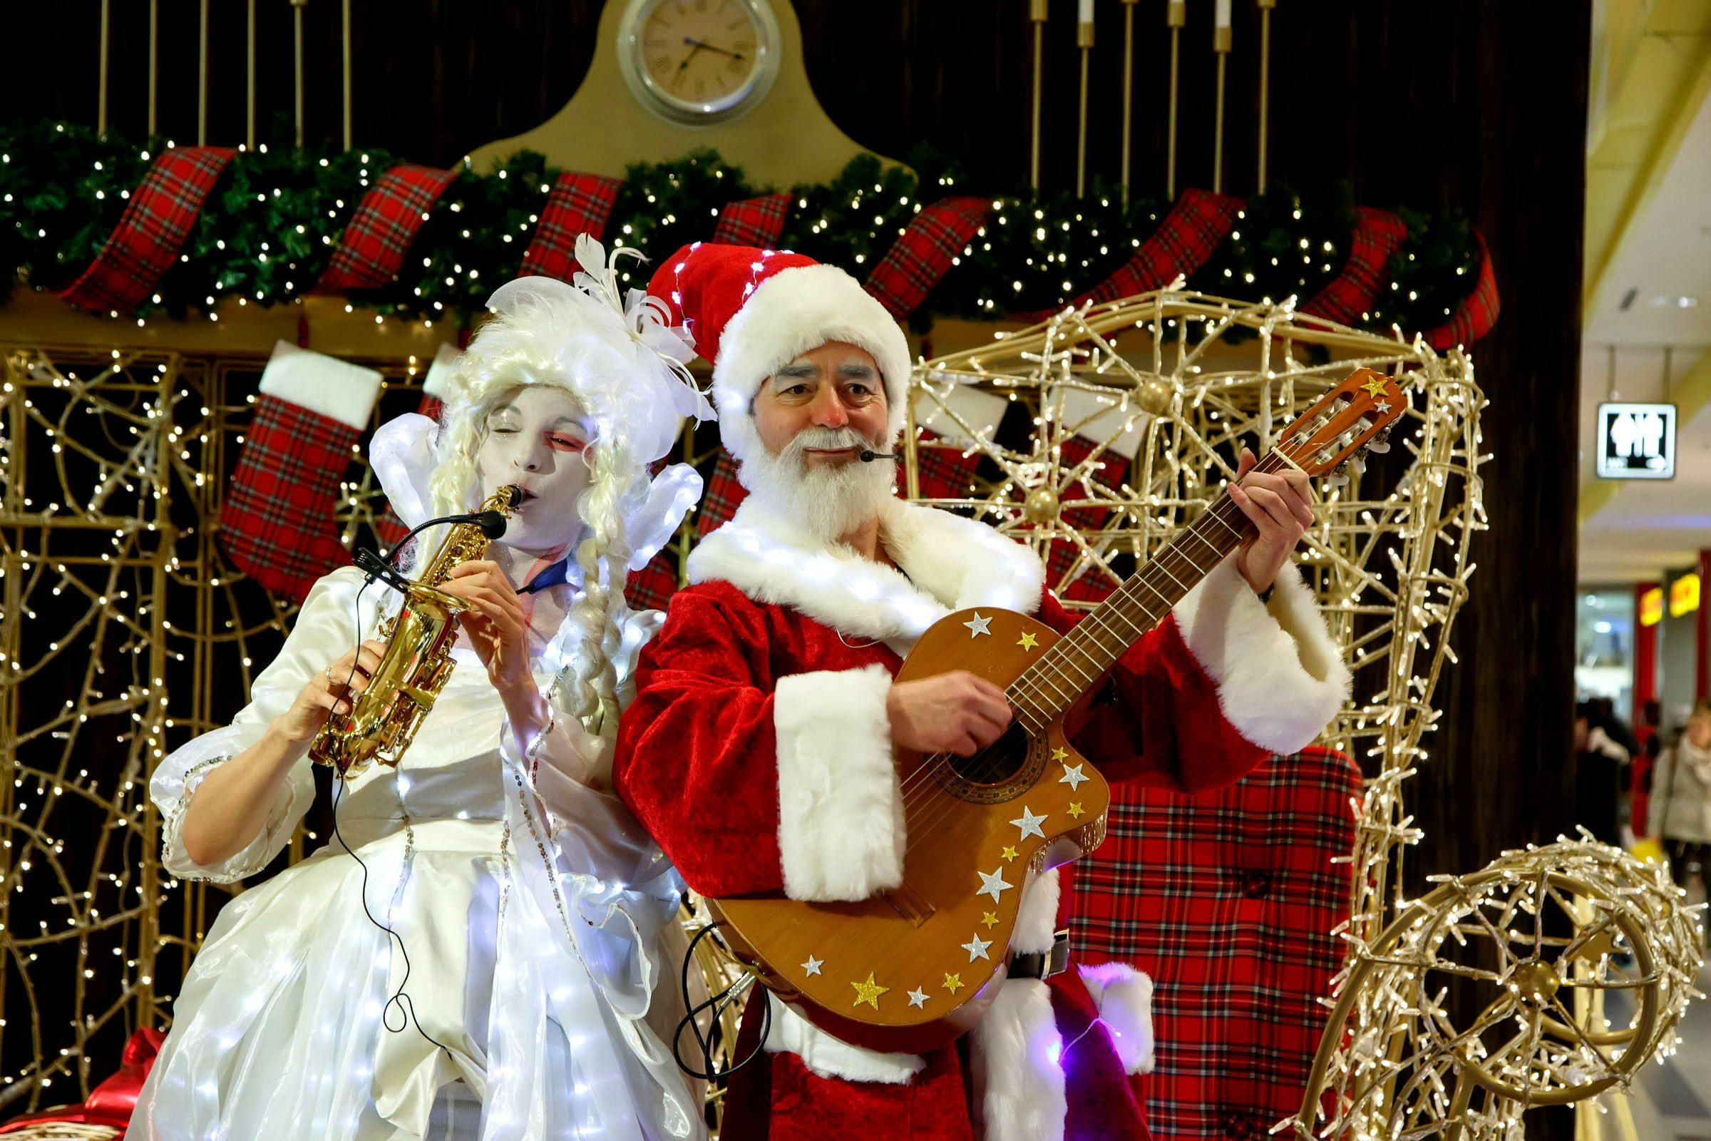
[[[873,354],[885,381],[886,445],[903,431],[909,339],[873,294],[837,265],[797,265],[763,281],[725,323],[713,363],[719,436],[736,458],[761,446],[753,402],[761,383],[830,340]]]

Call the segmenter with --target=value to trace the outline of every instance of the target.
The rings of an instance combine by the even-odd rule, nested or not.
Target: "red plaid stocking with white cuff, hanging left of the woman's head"
[[[378,397],[373,369],[274,347],[221,510],[221,542],[238,570],[301,602],[317,578],[349,561],[334,506]]]

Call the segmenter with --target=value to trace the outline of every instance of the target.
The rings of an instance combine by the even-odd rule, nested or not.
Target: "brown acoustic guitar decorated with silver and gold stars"
[[[1357,369],[1254,467],[1333,474],[1401,416],[1396,380]],[[903,883],[859,903],[782,891],[708,900],[732,953],[811,1023],[873,1050],[922,1054],[970,1030],[998,996],[1023,893],[1105,837],[1110,789],[1064,715],[1249,534],[1225,493],[1069,633],[996,607],[934,623],[897,681],[965,669],[1004,688],[1009,729],[974,756],[897,749]]]

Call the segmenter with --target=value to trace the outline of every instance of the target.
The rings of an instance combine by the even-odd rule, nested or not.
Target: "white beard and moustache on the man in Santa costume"
[[[840,440],[814,438],[814,431],[804,429],[779,455],[756,448],[756,453],[737,467],[737,479],[751,496],[802,530],[837,542],[878,515],[879,505],[895,494],[897,465],[893,460],[869,464],[854,460],[840,467],[802,467],[804,446],[840,443]],[[856,446],[878,450],[856,431],[849,431],[849,440],[857,440]]]

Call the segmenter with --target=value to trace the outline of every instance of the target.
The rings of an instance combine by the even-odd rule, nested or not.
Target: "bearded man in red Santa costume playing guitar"
[[[690,556],[690,587],[643,648],[614,783],[691,888],[861,900],[897,888],[893,746],[972,754],[1009,722],[968,672],[891,681],[936,619],[984,606],[1075,619],[1033,553],[895,498],[909,346],[844,270],[696,243],[648,286],[713,363],[725,450],[749,494]],[[862,453],[879,453],[881,458]],[[1348,674],[1288,556],[1305,476],[1247,474],[1254,535],[1117,662],[1075,746],[1110,780],[1201,790],[1312,741]],[[1009,978],[977,1028],[878,1054],[772,1004],[767,1055],[731,1078],[727,1141],[1146,1138],[1128,1074],[1152,1062],[1152,984],[1122,965],[1056,970],[1057,874],[1028,888]],[[1056,973],[1054,973],[1056,970]],[[756,987],[756,990],[760,990]]]

